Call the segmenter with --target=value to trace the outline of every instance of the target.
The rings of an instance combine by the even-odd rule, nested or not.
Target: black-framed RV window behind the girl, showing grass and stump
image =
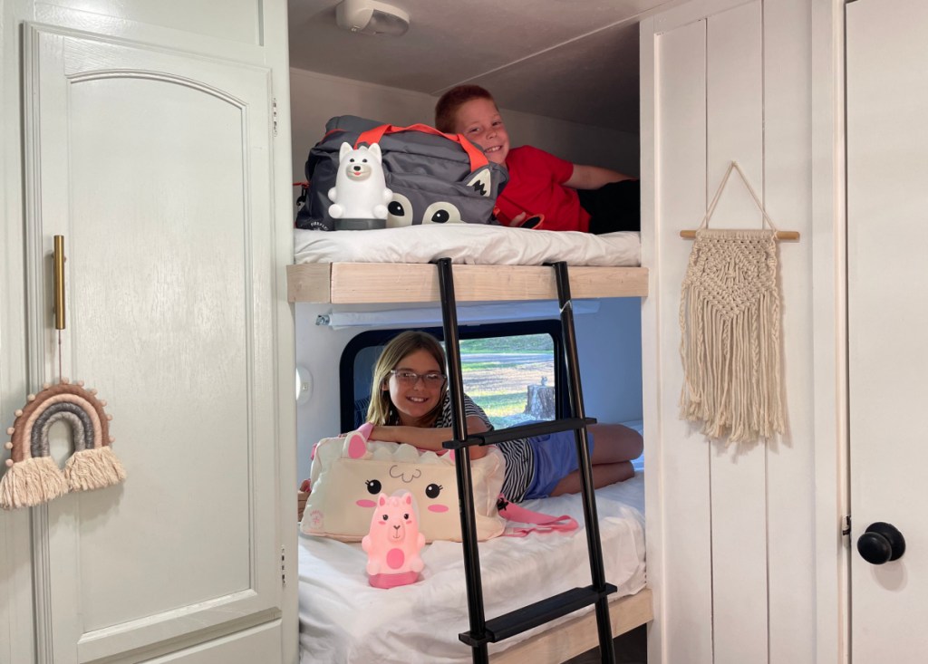
[[[342,430],[360,426],[367,416],[374,364],[386,343],[402,330],[371,330],[353,338],[342,352]],[[440,327],[424,331],[443,338]],[[461,372],[464,391],[496,428],[554,419],[567,412],[567,394],[558,321],[462,326]]]

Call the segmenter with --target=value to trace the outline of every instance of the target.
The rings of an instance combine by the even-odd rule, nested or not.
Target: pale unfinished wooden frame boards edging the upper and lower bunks
[[[454,265],[458,301],[557,300],[554,272],[535,265]],[[576,299],[648,295],[644,267],[572,266]],[[290,302],[391,304],[441,301],[438,271],[431,263],[309,262],[287,266]],[[609,603],[612,636],[654,618],[652,593],[644,588]],[[599,645],[595,612],[570,619],[492,658],[494,664],[534,661],[559,664]]]

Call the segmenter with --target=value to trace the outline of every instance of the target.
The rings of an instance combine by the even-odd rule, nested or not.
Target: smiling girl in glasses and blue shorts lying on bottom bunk
[[[444,451],[442,443],[454,434],[445,351],[438,339],[418,331],[393,338],[380,353],[372,385],[367,408],[367,421],[374,425],[371,441],[406,442],[423,450]],[[464,411],[469,433],[493,428],[483,409],[467,395]],[[631,460],[643,449],[638,431],[619,424],[594,424],[588,433],[595,487],[634,477]],[[580,492],[573,431],[502,442],[496,447],[506,459],[503,495],[510,501]],[[472,458],[484,454],[481,446],[470,448]]]

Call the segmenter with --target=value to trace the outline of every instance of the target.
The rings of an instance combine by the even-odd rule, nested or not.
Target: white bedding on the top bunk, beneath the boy
[[[484,223],[429,223],[370,231],[293,231],[294,262],[430,262],[637,266],[638,233],[594,236]]]

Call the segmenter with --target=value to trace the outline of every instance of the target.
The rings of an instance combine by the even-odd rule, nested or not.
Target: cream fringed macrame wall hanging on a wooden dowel
[[[708,227],[732,170],[741,175],[769,228]],[[680,235],[695,237],[680,295],[680,416],[702,423],[706,436],[728,442],[782,433],[777,240],[798,234],[777,231],[732,161],[699,228]]]

